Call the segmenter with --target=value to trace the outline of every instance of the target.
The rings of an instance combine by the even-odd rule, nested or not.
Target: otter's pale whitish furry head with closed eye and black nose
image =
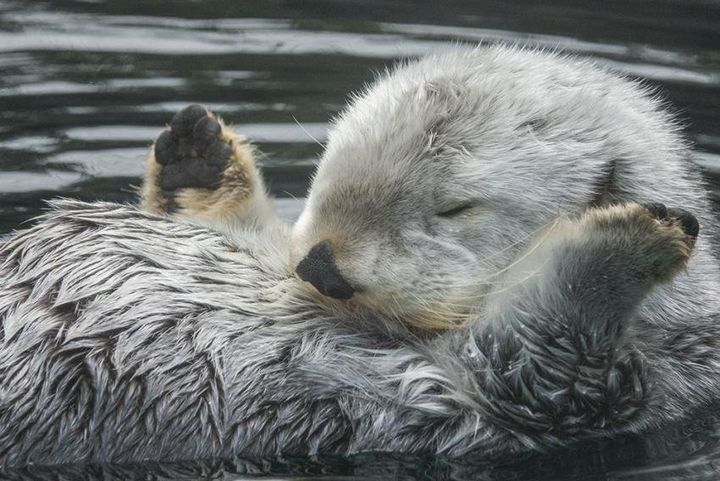
[[[608,94],[638,101],[636,90],[517,50],[399,67],[331,130],[291,265],[338,305],[462,322],[535,232],[613,195],[617,156],[640,155],[626,152],[627,129],[641,129],[617,125],[628,109]]]

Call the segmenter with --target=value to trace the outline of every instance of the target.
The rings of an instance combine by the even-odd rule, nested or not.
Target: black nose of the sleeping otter
[[[309,282],[323,295],[335,299],[350,299],[355,289],[345,280],[335,265],[335,255],[329,241],[315,244],[295,268],[300,279]]]

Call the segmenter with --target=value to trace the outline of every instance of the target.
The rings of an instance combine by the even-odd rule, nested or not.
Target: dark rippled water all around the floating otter
[[[324,139],[348,93],[397,58],[455,41],[559,48],[658,86],[720,200],[716,1],[0,0],[0,233],[40,213],[43,199],[134,200],[151,139],[193,102],[258,144],[291,216],[321,150],[313,137]],[[718,479],[716,412],[640,439],[523,460],[236,460],[43,476]]]

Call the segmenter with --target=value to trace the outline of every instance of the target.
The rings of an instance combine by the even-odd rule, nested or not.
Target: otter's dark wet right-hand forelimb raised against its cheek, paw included
[[[508,271],[462,346],[486,418],[537,447],[667,414],[635,320],[686,265],[697,234],[693,216],[660,204],[558,222]]]

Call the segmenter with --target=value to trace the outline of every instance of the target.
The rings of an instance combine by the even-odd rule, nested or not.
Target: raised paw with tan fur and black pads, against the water
[[[200,105],[175,114],[150,152],[144,208],[225,220],[267,204],[249,143]]]

